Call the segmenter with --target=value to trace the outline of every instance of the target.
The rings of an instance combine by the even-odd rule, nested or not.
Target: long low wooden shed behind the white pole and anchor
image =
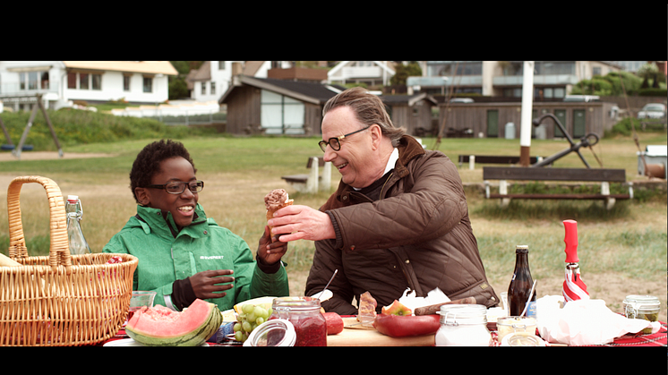
[[[531,118],[552,114],[559,119],[573,139],[593,132],[599,137],[612,129],[616,123],[616,105],[607,102],[534,102]],[[474,137],[508,138],[507,127],[512,138],[519,138],[521,125],[521,102],[491,103],[441,103],[439,124],[445,120],[444,134],[449,130],[469,132]],[[512,124],[512,125],[510,125]],[[563,134],[551,118],[545,118],[541,128],[534,126],[532,138],[561,138]]]

